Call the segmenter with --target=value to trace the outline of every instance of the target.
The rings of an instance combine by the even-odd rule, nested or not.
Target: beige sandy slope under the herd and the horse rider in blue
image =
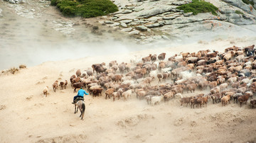
[[[232,41],[232,40],[231,40]],[[250,45],[241,39],[235,45]],[[223,46],[221,46],[223,45]],[[85,57],[60,62],[45,62],[22,69],[17,74],[1,74],[0,139],[1,142],[251,142],[256,141],[256,110],[249,105],[231,103],[203,108],[180,108],[177,100],[160,105],[147,105],[135,96],[129,101],[105,100],[104,95],[86,96],[85,120],[74,115],[71,104],[73,89],[53,92],[55,80],[69,79],[77,69],[87,69],[94,63],[137,61],[148,53],[198,51],[207,47],[223,51],[230,40],[175,48]],[[192,49],[193,47],[193,49]],[[175,50],[174,50],[175,49]],[[155,81],[154,84],[157,82]],[[44,86],[50,96],[43,97]],[[196,91],[196,93],[208,91]],[[196,93],[184,93],[191,96]]]

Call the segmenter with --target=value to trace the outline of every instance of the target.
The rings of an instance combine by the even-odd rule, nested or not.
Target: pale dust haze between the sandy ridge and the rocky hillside
[[[190,33],[181,33],[178,36],[170,34],[169,40],[137,44],[138,40],[128,39],[123,35],[115,35],[119,36],[117,40],[114,38],[116,33],[105,32],[102,35],[95,35],[91,33],[91,28],[78,31],[79,36],[75,36],[76,33],[65,35],[50,27],[47,24],[50,21],[35,21],[14,16],[8,8],[4,8],[3,15],[4,17],[0,18],[0,69],[18,67],[20,64],[31,67],[49,61],[124,54],[140,50],[156,50],[155,54],[159,54],[162,51],[157,49],[175,50],[178,45],[195,43],[198,43],[198,47],[191,47],[191,50],[203,46],[215,50],[214,46],[207,45],[208,42],[228,40],[231,45],[235,45],[239,42],[238,39],[240,42],[253,41],[256,35],[256,25],[239,28],[237,25],[230,25],[227,28],[223,26],[210,31],[191,30]]]

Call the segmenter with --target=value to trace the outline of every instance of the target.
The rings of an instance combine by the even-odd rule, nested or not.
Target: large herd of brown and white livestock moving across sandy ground
[[[248,47],[228,47],[224,52],[200,50],[181,52],[166,57],[166,53],[149,55],[138,61],[118,64],[116,60],[106,65],[92,64],[92,69],[76,71],[70,77],[74,89],[87,88],[92,96],[105,93],[105,98],[124,101],[137,96],[148,104],[156,105],[162,101],[178,98],[191,108],[207,105],[208,101],[225,106],[230,101],[247,103],[255,107],[256,100],[256,49]],[[53,91],[67,88],[68,81],[55,81]],[[210,88],[210,91],[208,90]],[[183,92],[195,92],[184,97]],[[204,93],[200,93],[204,91]],[[206,93],[208,92],[208,93]],[[47,96],[48,87],[43,90]],[[205,94],[206,93],[206,94]]]

